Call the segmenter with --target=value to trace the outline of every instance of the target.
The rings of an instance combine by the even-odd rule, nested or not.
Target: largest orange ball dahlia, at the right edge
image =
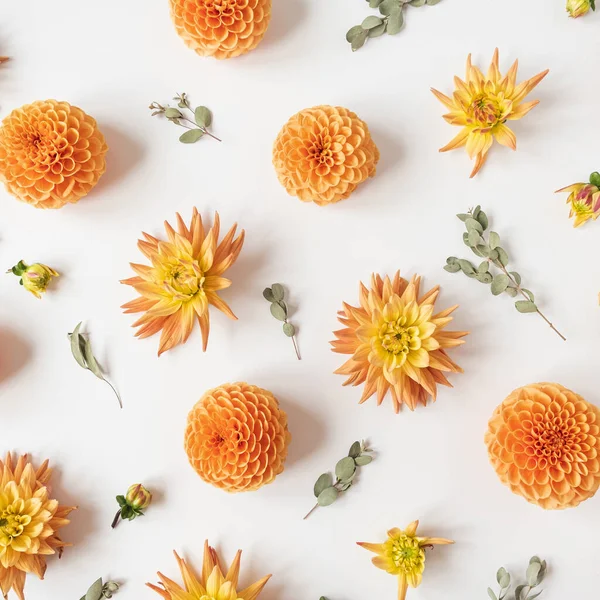
[[[542,508],[577,506],[600,486],[600,410],[557,383],[512,392],[485,443],[500,481]]]

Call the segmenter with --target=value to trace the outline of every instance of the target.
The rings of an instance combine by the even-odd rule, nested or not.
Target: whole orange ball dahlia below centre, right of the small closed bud
[[[247,383],[209,390],[188,415],[185,451],[204,481],[249,492],[283,471],[291,435],[271,392]]]

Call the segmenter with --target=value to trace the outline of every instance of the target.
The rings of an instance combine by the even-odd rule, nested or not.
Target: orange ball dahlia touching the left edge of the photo
[[[17,108],[0,127],[0,181],[36,208],[81,200],[106,170],[108,146],[96,121],[56,100]]]

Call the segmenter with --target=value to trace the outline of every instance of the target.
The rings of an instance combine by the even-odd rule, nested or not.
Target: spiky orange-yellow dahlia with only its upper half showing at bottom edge
[[[224,574],[219,563],[219,557],[214,548],[204,542],[204,560],[202,563],[202,573],[198,577],[185,560],[179,558],[177,552],[174,552],[175,559],[181,571],[184,587],[175,583],[172,579],[158,573],[160,583],[146,585],[158,592],[165,600],[256,600],[262,592],[270,575],[248,586],[241,592],[237,591],[238,577],[240,573],[240,560],[242,551],[238,550],[231,566]]]

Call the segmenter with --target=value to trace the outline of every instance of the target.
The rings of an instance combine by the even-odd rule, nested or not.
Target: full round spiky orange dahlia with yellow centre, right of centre
[[[464,343],[468,331],[444,331],[458,306],[433,314],[439,286],[419,296],[421,278],[410,281],[396,272],[394,279],[372,275],[371,289],[360,284],[360,306],[344,302],[335,331],[334,352],[351,354],[337,371],[348,375],[344,385],[365,384],[360,403],[377,393],[377,404],[391,392],[394,410],[404,402],[410,410],[424,406],[437,385],[452,387],[444,372],[462,373],[444,348]]]

